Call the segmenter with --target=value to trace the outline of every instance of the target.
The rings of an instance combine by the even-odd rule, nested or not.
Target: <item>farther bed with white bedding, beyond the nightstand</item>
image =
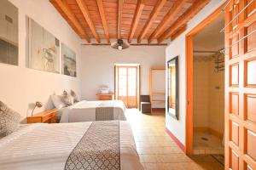
[[[62,108],[57,116],[60,122],[125,121],[126,107],[121,100],[80,101]]]

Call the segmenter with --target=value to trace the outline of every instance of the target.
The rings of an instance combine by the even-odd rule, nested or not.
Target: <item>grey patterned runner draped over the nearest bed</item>
[[[67,158],[71,169],[119,170],[119,121],[92,122]]]

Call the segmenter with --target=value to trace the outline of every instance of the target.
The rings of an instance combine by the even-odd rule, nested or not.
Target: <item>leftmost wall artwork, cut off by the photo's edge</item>
[[[8,0],[0,1],[0,63],[19,64],[18,8]]]

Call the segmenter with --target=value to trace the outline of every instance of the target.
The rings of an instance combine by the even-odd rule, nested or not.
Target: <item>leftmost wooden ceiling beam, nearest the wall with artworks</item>
[[[88,37],[88,35],[86,34],[83,26],[80,25],[79,20],[76,18],[76,16],[73,14],[73,12],[71,11],[71,9],[68,7],[68,4],[66,3],[65,0],[49,0],[51,3],[55,3],[63,12],[63,14],[65,14],[68,18],[68,20],[70,20],[73,24],[73,26],[75,26],[76,30],[79,31],[79,34],[87,41],[90,43],[90,37]]]

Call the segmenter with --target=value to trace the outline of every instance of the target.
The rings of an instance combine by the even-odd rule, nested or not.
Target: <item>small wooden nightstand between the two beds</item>
[[[50,122],[55,123],[55,114],[58,110],[54,109],[51,111],[43,111],[40,113],[37,113],[33,116],[26,117],[27,123],[35,123],[35,122]]]

